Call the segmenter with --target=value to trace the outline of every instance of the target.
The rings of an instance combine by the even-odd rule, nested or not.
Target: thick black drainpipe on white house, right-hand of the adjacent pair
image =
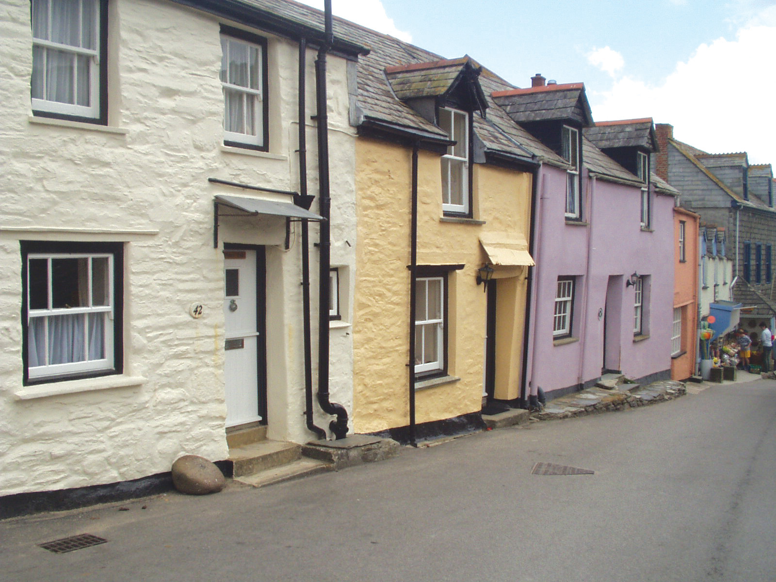
[[[331,191],[329,187],[329,140],[326,102],[326,53],[334,43],[331,0],[324,0],[326,38],[318,49],[315,81],[318,121],[318,175],[320,187],[320,281],[318,293],[318,404],[326,414],[336,414],[329,428],[337,439],[348,434],[348,411],[329,400],[329,269],[331,268]]]

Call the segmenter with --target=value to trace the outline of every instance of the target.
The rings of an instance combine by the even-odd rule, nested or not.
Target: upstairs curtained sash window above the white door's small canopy
[[[266,40],[222,26],[220,79],[224,143],[266,150]]]

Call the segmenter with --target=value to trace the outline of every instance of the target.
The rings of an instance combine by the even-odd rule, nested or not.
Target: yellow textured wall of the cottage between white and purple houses
[[[459,265],[448,277],[450,381],[416,391],[418,424],[480,411],[487,294],[476,284],[487,261],[480,235],[528,240],[532,174],[474,165],[473,218],[442,218],[439,154],[418,153],[417,264]],[[356,256],[353,315],[355,432],[409,424],[412,151],[359,137],[356,144]],[[520,395],[527,268],[497,267],[495,397]]]

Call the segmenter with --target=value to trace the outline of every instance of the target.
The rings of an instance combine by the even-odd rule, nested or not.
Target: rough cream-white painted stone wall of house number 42
[[[221,146],[217,19],[165,0],[116,0],[109,31],[109,126],[119,130],[33,123],[29,1],[0,9],[0,495],[136,479],[168,471],[182,452],[227,457],[213,195],[245,192],[207,178],[298,189],[295,43],[256,31],[268,38],[271,146],[251,154]],[[310,115],[313,61],[310,51]],[[355,140],[345,61],[336,57],[329,93],[332,259],[352,265]],[[308,140],[314,178],[312,126]],[[290,251],[282,249],[282,219],[223,219],[220,235],[222,244],[279,245],[267,251],[269,434],[307,441],[299,226]],[[126,243],[123,378],[22,386],[19,240]],[[193,301],[205,306],[197,320],[188,313]],[[352,344],[345,332],[332,336],[332,400],[349,408]],[[102,390],[81,391],[95,386]],[[19,399],[42,389],[54,394]]]

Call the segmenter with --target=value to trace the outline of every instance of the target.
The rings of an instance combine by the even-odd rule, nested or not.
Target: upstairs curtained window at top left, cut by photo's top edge
[[[32,0],[33,111],[104,120],[104,0]]]

